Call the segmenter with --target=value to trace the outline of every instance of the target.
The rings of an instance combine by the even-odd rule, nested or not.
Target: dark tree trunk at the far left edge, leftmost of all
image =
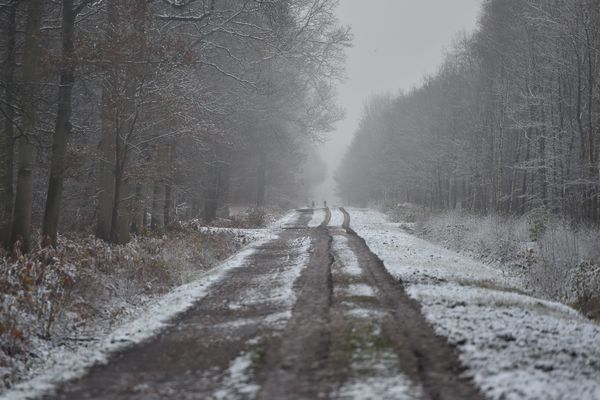
[[[13,174],[14,174],[14,79],[16,47],[16,3],[8,9],[6,35],[6,60],[4,64],[4,132],[0,134],[0,246],[10,242],[11,217],[13,212]]]

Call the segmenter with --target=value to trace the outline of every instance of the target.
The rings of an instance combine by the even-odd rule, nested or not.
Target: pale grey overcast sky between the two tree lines
[[[482,0],[340,0],[340,22],[349,25],[354,46],[348,49],[347,80],[339,88],[346,118],[320,152],[329,179],[315,198],[335,201],[335,172],[358,127],[364,101],[379,93],[418,86],[434,73],[444,52],[461,31],[472,31]]]

